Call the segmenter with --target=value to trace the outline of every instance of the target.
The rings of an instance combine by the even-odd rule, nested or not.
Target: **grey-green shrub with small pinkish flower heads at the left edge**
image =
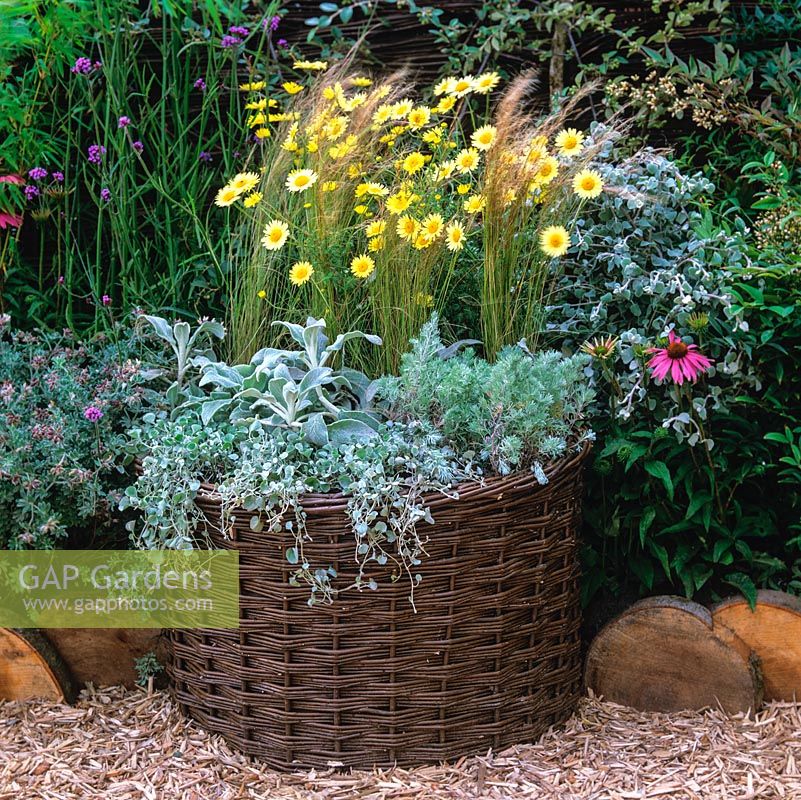
[[[123,431],[144,386],[126,341],[69,333],[0,338],[0,547],[118,535]],[[87,536],[83,536],[85,540]]]

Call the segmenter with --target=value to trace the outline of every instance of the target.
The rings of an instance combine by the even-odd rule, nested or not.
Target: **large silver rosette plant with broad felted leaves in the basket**
[[[190,398],[185,405],[200,403],[204,424],[225,411],[238,425],[300,429],[318,446],[374,436],[378,417],[370,410],[370,380],[357,370],[334,370],[329,363],[352,339],[376,345],[381,339],[350,331],[329,344],[325,320],[313,317],[305,326],[273,324],[283,325],[302,349],[267,347],[249,364],[233,367],[195,358],[192,363],[201,371],[199,386],[211,388],[208,396]]]

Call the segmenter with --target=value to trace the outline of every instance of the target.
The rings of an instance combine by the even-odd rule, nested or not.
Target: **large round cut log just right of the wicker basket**
[[[635,603],[595,637],[585,682],[605,700],[642,711],[762,704],[759,661],[732,631],[716,632],[709,611],[680,597]]]

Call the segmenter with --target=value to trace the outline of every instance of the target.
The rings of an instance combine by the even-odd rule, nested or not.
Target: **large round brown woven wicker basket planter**
[[[288,585],[283,534],[241,515],[239,630],[174,630],[170,673],[185,713],[279,770],[415,765],[531,741],[580,690],[576,527],[586,451],[431,501],[415,589],[371,573],[376,591],[307,605]],[[213,493],[199,500],[214,523]],[[304,499],[312,563],[355,574],[346,499]],[[349,574],[350,573],[350,574]],[[343,583],[343,585],[345,585]]]

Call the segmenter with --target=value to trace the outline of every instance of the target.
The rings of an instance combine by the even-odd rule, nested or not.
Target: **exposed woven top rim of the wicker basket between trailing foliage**
[[[573,448],[575,448],[575,445],[573,445]],[[572,449],[571,452],[560,458],[543,464],[543,471],[548,478],[548,482],[544,484],[537,480],[530,469],[525,469],[517,470],[509,475],[493,475],[488,478],[482,478],[480,481],[462,481],[462,483],[453,487],[453,491],[458,495],[458,501],[461,501],[479,500],[482,497],[491,497],[494,500],[498,500],[504,495],[528,493],[532,489],[546,489],[557,476],[572,471],[583,462],[591,449],[592,441],[585,440],[579,450]],[[350,495],[343,492],[313,492],[301,496],[305,512],[344,509],[347,507],[349,499]],[[434,492],[426,495],[426,505],[435,510],[438,506],[454,502],[455,499],[457,498],[451,495]],[[196,503],[213,503],[217,505],[220,500],[221,496],[217,492],[215,485],[205,482],[200,484],[195,496]]]

